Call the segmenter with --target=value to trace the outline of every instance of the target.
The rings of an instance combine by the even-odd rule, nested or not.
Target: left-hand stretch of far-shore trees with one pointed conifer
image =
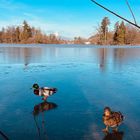
[[[26,21],[22,26],[9,26],[0,31],[0,43],[43,43],[43,44],[63,44],[65,40],[55,34],[43,34],[40,29],[31,27]]]

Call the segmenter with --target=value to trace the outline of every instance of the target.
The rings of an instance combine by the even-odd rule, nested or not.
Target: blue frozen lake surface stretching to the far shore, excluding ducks
[[[43,103],[33,83],[58,92]],[[140,139],[138,46],[1,45],[0,89],[0,140]],[[115,135],[102,132],[105,106],[125,116]]]

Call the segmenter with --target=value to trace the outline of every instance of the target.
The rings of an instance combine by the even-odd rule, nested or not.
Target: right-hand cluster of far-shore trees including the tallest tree
[[[114,29],[109,31],[110,20],[104,17],[95,35],[88,40],[98,45],[137,45],[140,44],[140,30],[123,21],[116,22]]]

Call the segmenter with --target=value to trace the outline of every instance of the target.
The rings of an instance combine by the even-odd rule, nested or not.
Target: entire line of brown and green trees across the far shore
[[[26,21],[22,26],[9,26],[0,30],[0,43],[42,43],[42,44],[96,44],[96,45],[138,45],[140,30],[123,21],[116,22],[109,30],[110,20],[104,17],[89,38],[74,37],[73,40],[62,39],[55,34],[44,34],[40,29],[31,27]]]

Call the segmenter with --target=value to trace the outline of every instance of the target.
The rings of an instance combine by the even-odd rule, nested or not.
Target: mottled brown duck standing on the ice
[[[117,131],[118,126],[123,122],[123,115],[121,112],[113,112],[109,107],[104,108],[103,122],[106,128],[103,131],[108,132],[109,127]]]

